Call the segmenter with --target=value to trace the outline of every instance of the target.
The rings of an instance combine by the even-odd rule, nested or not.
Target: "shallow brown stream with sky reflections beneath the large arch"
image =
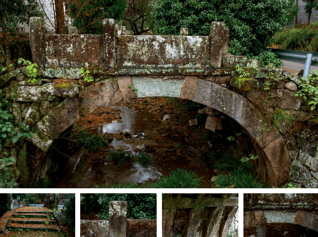
[[[191,147],[191,144],[184,144],[182,133],[174,131],[172,137],[167,136],[167,132],[171,133],[171,130],[166,129],[163,121],[148,112],[146,107],[114,109],[120,109],[121,119],[100,124],[96,128],[96,134],[118,135],[129,132],[132,136],[118,140],[115,135],[113,141],[94,156],[84,155],[83,150],[77,151],[72,156],[74,161],[68,171],[62,178],[56,179],[54,187],[89,188],[106,182],[136,185],[169,175],[175,168],[193,170],[199,177],[203,177],[204,187],[210,187],[208,180],[215,175],[213,165],[205,162],[203,154]],[[125,150],[135,155],[146,152],[156,162],[147,168],[139,164],[113,166],[107,161],[110,150]]]

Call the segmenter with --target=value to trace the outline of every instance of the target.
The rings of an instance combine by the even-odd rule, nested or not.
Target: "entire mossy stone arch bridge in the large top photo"
[[[102,35],[78,35],[74,27],[67,35],[49,35],[44,25],[42,18],[30,19],[32,57],[41,79],[26,82],[28,73],[20,68],[0,80],[6,97],[14,101],[15,123],[23,121],[39,131],[19,148],[7,149],[18,157],[17,175],[25,187],[45,176],[50,164],[45,152],[74,122],[97,108],[145,96],[179,97],[225,113],[252,139],[260,157],[254,164],[263,181],[279,186],[291,176],[305,187],[318,187],[315,129],[290,132],[296,120],[308,115],[294,96],[299,77],[256,68],[257,60],[225,53],[229,33],[223,23],[213,22],[207,37],[188,36],[186,28],[180,35],[125,35],[113,19],[104,19]],[[237,64],[250,68],[253,78],[238,78],[233,70]],[[92,82],[84,82],[81,67],[89,70]],[[265,91],[268,77],[275,83]],[[68,82],[57,80],[61,78]],[[274,127],[277,108],[295,120]],[[314,137],[301,138],[304,129]]]

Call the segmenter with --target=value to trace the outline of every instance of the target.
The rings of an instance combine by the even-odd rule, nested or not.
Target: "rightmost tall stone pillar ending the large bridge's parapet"
[[[210,42],[210,66],[214,68],[221,67],[222,53],[224,47],[224,23],[212,22],[209,36]]]

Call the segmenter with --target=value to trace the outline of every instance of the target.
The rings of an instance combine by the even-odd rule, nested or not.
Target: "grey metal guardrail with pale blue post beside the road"
[[[304,77],[307,77],[310,71],[310,66],[318,65],[318,52],[297,51],[288,49],[272,49],[279,59],[294,63],[305,64]]]

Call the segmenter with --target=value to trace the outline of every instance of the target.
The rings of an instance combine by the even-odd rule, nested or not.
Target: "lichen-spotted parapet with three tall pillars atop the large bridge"
[[[211,23],[210,36],[120,35],[114,19],[103,20],[102,35],[45,34],[44,20],[30,19],[33,62],[46,68],[90,68],[106,74],[207,74],[221,67],[229,33]],[[76,32],[76,31],[75,31]],[[55,69],[58,70],[58,69]],[[133,73],[134,74],[134,73]]]

